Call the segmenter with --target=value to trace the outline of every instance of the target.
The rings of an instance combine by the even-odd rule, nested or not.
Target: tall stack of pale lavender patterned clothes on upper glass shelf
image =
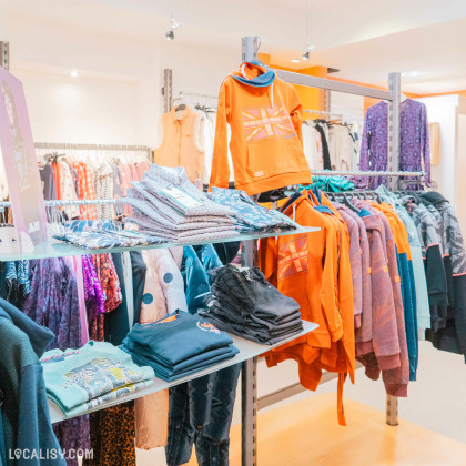
[[[133,182],[124,202],[132,215],[124,220],[141,233],[168,241],[205,241],[237,234],[233,210],[205,196],[183,168],[155,164],[141,182]]]

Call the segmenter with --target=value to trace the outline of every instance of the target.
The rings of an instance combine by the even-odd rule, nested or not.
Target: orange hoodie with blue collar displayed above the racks
[[[236,189],[253,195],[311,183],[302,120],[303,109],[292,85],[272,70],[243,63],[220,90],[210,186],[229,186],[227,123]]]

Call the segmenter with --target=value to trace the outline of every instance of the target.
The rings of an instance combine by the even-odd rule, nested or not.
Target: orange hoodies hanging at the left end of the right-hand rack
[[[322,369],[338,372],[338,422],[345,425],[343,383],[354,383],[355,343],[353,284],[345,224],[336,215],[320,212],[316,199],[303,192],[284,211],[301,225],[320,232],[262,240],[261,269],[282,293],[301,305],[302,317],[320,327],[308,335],[272,350],[269,366],[282,361],[298,363],[300,381],[316,389]]]

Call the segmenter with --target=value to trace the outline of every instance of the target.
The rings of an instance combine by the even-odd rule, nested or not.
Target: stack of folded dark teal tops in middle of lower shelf
[[[230,335],[186,312],[136,324],[120,346],[134,363],[151,366],[166,382],[175,381],[235,356]]]

